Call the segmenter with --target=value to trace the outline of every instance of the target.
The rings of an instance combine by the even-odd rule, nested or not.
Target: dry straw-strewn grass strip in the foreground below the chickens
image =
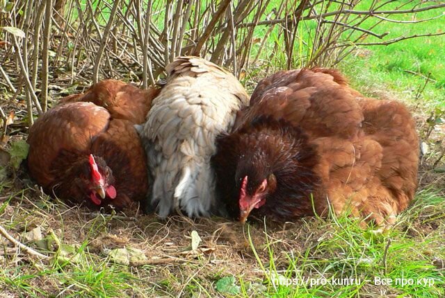
[[[243,228],[219,218],[159,222],[153,216],[133,220],[88,213],[48,198],[39,202],[33,189],[8,199],[1,225],[25,243],[26,231],[40,227],[53,243],[47,254],[56,260],[35,262],[4,243],[0,289],[12,297],[445,295],[444,270],[435,265],[445,259],[445,200],[437,191],[419,191],[396,227],[383,234],[363,230],[347,216],[286,225],[259,221]],[[195,252],[193,230],[202,238]],[[57,256],[61,249],[51,234],[62,246],[74,247],[65,258]],[[35,241],[28,245],[38,248]],[[161,265],[118,265],[108,254],[118,247],[142,249],[150,259],[172,259]],[[216,286],[225,277],[234,277],[234,295]]]

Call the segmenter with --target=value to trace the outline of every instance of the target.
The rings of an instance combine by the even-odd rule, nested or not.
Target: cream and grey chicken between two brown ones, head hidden
[[[166,71],[166,85],[140,132],[150,170],[149,209],[161,218],[173,211],[209,216],[218,213],[214,140],[232,128],[249,96],[231,73],[201,58],[176,58]]]

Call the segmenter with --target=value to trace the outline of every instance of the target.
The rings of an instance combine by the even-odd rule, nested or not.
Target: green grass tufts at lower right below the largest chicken
[[[438,224],[439,229],[421,240],[413,237],[412,231],[419,232],[418,227],[414,227],[419,223],[416,218],[431,207],[436,209],[439,218],[428,216],[421,224]],[[281,264],[280,252],[270,244],[272,238],[266,234],[264,250],[269,261],[262,263],[259,257],[257,261],[266,276],[268,295],[356,297],[366,295],[375,286],[387,294],[397,293],[398,297],[442,297],[445,295],[444,272],[432,265],[432,252],[436,257],[445,254],[441,236],[445,228],[444,208],[443,197],[422,191],[410,210],[401,216],[398,228],[384,234],[363,231],[346,216],[316,224],[307,222],[307,229],[314,229],[316,225],[313,232],[321,236],[309,248],[285,252],[285,265]],[[251,245],[255,251],[259,249]],[[279,278],[283,280],[281,285]],[[382,281],[391,284],[383,285]],[[286,282],[292,284],[288,286]]]

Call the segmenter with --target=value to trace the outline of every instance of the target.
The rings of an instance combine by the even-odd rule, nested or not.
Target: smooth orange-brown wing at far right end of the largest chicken
[[[382,146],[380,183],[396,197],[401,211],[414,198],[419,166],[419,138],[416,125],[405,105],[390,100],[364,98],[364,132]]]

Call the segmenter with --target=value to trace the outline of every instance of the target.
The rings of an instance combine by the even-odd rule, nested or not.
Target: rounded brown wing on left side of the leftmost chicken
[[[56,177],[51,164],[60,150],[88,152],[91,141],[108,126],[110,114],[92,103],[68,103],[50,109],[35,121],[29,131],[28,165],[42,186]]]

